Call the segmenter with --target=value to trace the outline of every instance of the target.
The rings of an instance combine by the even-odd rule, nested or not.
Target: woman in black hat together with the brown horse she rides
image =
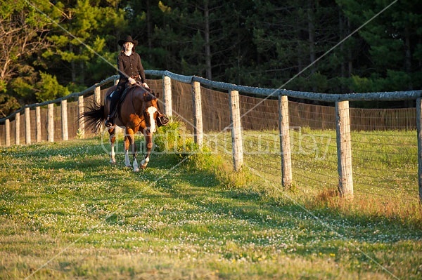
[[[145,73],[141,63],[140,56],[134,52],[134,47],[138,41],[133,40],[132,36],[120,40],[119,45],[122,51],[117,58],[120,80],[117,86],[112,86],[106,93],[104,105],[98,105],[96,102],[79,116],[84,118],[87,126],[91,126],[99,131],[103,121],[108,127],[110,134],[110,163],[115,164],[115,125],[124,126],[124,164],[131,166],[129,161],[129,145],[134,156],[134,171],[139,171],[139,165],[136,161],[136,144],[134,135],[141,131],[146,140],[146,155],[141,161],[141,168],[145,168],[149,161],[149,155],[153,147],[153,133],[156,127],[166,125],[169,121],[167,116],[160,112],[158,107],[158,96],[155,96],[145,82]],[[142,84],[139,84],[141,81]],[[122,93],[127,89],[126,94]],[[123,98],[123,100],[121,100]],[[119,104],[117,106],[117,104]],[[118,107],[118,108],[117,108]],[[117,120],[115,116],[117,115]]]

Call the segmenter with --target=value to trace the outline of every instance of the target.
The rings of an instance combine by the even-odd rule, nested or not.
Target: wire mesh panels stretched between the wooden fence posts
[[[192,84],[172,79],[172,114],[195,132]],[[111,80],[110,80],[111,81]],[[148,79],[153,91],[164,92],[162,79]],[[204,145],[230,158],[232,153],[229,95],[221,88],[201,84]],[[101,100],[108,88],[101,88]],[[279,100],[239,91],[243,160],[245,168],[281,186]],[[87,95],[92,100],[94,95]],[[165,104],[162,104],[165,106]],[[30,119],[35,119],[34,110]],[[68,103],[69,139],[80,135],[77,100]],[[295,187],[305,195],[337,189],[338,151],[335,107],[288,102],[292,176]],[[62,140],[60,106],[54,107],[54,140]],[[416,108],[350,108],[352,166],[355,196],[376,196],[388,203],[418,201],[418,136]],[[41,140],[47,140],[47,109],[41,107]],[[19,134],[16,135],[16,126]],[[10,121],[11,142],[25,143],[25,121]],[[35,139],[35,124],[31,123]],[[0,145],[5,145],[6,128],[0,123]],[[90,132],[87,131],[87,134]],[[16,141],[15,137],[20,138]]]

